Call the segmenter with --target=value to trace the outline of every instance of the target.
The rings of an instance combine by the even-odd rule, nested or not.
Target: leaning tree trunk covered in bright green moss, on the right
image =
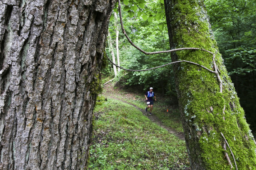
[[[240,107],[234,85],[210,29],[203,0],[165,0],[170,47],[204,48],[216,53],[223,82],[214,73],[190,63],[174,66],[176,90],[187,150],[193,170],[256,169],[256,146]],[[187,60],[213,68],[213,56],[204,51],[179,51],[173,61]],[[235,161],[221,132],[234,153]]]

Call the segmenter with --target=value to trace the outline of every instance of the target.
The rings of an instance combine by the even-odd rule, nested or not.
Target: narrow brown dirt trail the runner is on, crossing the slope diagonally
[[[137,107],[136,105],[134,105],[134,104],[132,104],[132,103],[129,103],[129,102],[125,101],[125,100],[118,99],[118,98],[114,97],[112,93],[108,93],[108,91],[105,92],[105,93],[103,93],[103,95],[104,95],[104,96],[107,96],[107,97],[109,97],[109,98],[116,99],[116,100],[120,100],[120,101],[122,101],[122,102],[125,102],[125,103],[127,103],[127,104],[132,105],[132,106],[135,107],[136,109],[140,110],[140,111],[142,112],[142,114],[144,114],[145,116],[147,116],[152,122],[158,124],[161,128],[166,129],[169,133],[174,134],[174,135],[177,136],[179,139],[185,140],[184,133],[182,133],[182,132],[177,132],[175,129],[172,129],[172,128],[170,128],[170,127],[165,126],[154,114],[153,114],[153,115],[149,115],[149,114],[148,114],[149,112],[146,112],[145,109],[140,109],[139,107]]]

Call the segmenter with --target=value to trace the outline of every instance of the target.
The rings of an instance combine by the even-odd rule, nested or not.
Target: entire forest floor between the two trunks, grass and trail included
[[[178,106],[157,95],[150,116],[144,98],[135,87],[104,87],[93,113],[89,170],[190,170]]]

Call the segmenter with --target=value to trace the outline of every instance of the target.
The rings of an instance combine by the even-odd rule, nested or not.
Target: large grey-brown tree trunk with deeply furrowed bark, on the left
[[[0,1],[1,170],[86,167],[113,1]]]

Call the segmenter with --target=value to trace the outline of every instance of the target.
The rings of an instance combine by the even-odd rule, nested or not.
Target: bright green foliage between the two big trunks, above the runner
[[[146,7],[142,10],[136,5],[138,2],[145,3]],[[123,10],[127,11],[122,13],[126,33],[135,44],[145,51],[170,49],[163,3],[160,1],[147,3],[145,1],[129,1],[128,5],[123,5]],[[133,17],[131,17],[132,11],[134,12]],[[112,39],[115,39],[116,36],[114,29],[116,27],[111,22],[109,31]],[[119,42],[121,42],[119,44],[120,64],[124,68],[147,69],[171,62],[170,54],[144,55],[131,46],[123,34],[119,34]],[[154,86],[164,93],[170,93],[169,88],[171,87],[172,90],[174,88],[172,66],[146,72],[121,71],[122,74],[124,76],[119,76],[119,80],[125,85],[139,84],[144,89]]]

